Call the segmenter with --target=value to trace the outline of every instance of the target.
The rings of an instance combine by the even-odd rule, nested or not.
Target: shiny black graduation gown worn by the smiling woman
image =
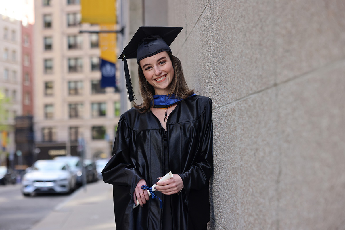
[[[144,208],[133,209],[133,193],[140,179],[150,187],[164,176],[163,131],[151,111],[132,108],[120,117],[113,156],[102,171],[104,182],[114,185],[116,229],[161,229],[159,200],[150,198]],[[197,95],[179,102],[168,117],[167,141],[170,171],[184,184],[180,194],[171,195],[173,229],[204,228],[210,220],[213,172],[211,99]],[[162,199],[160,192],[155,194]]]

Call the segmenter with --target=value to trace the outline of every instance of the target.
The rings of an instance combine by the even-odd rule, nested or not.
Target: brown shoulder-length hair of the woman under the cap
[[[177,98],[186,99],[187,97],[194,94],[194,90],[188,88],[185,76],[183,75],[182,64],[180,59],[173,56],[171,52],[168,52],[169,58],[172,62],[172,67],[174,68],[174,78],[170,83],[169,94],[174,93]],[[155,94],[155,89],[151,86],[144,76],[144,72],[139,64],[138,66],[139,75],[139,91],[142,97],[141,104],[135,103],[134,107],[139,109],[140,112],[148,112],[153,107],[153,95]]]

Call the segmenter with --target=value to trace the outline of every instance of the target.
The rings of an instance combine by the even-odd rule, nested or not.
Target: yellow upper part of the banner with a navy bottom
[[[100,30],[114,31],[116,30],[115,24],[106,25],[101,24]],[[100,58],[112,63],[116,63],[116,33],[99,33],[99,49],[101,51]]]

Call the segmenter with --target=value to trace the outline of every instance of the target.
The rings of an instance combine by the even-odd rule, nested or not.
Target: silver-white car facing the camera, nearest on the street
[[[22,178],[24,196],[35,193],[70,193],[76,188],[77,178],[65,162],[38,160]]]

